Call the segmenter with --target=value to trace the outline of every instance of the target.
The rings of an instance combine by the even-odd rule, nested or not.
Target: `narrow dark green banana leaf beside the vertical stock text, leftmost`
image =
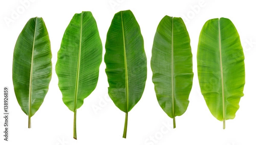
[[[34,17],[20,33],[13,54],[12,80],[21,109],[31,117],[44,102],[52,77],[49,35],[41,17]]]

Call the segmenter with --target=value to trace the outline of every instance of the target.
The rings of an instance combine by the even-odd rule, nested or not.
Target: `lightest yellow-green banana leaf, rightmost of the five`
[[[198,79],[212,115],[234,119],[243,94],[244,53],[239,34],[227,18],[208,20],[198,43]]]

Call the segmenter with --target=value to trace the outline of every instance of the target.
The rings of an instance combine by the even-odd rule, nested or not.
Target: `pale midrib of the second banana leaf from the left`
[[[79,72],[80,72],[80,61],[81,61],[81,44],[82,44],[82,26],[83,26],[82,24],[83,24],[83,12],[81,12],[79,52],[78,52],[78,61],[77,61],[77,69],[76,69],[77,72],[76,72],[76,88],[75,88],[74,112],[76,111],[78,85],[79,85]]]

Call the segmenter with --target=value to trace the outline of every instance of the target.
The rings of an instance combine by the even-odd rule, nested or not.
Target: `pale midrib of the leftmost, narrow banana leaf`
[[[37,17],[35,17],[35,32],[34,32],[34,38],[33,38],[31,66],[30,66],[30,77],[29,77],[29,117],[31,117],[32,79],[33,79],[33,61],[34,61],[36,25],[37,25]]]

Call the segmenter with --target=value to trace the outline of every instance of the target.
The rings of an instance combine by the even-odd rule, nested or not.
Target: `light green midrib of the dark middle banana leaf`
[[[129,104],[129,85],[128,85],[128,70],[127,70],[127,59],[126,59],[126,49],[125,49],[125,31],[123,24],[123,17],[121,11],[121,21],[122,21],[122,35],[123,35],[123,45],[124,45],[124,61],[125,61],[125,89],[126,89],[126,113],[128,113],[128,104]]]

